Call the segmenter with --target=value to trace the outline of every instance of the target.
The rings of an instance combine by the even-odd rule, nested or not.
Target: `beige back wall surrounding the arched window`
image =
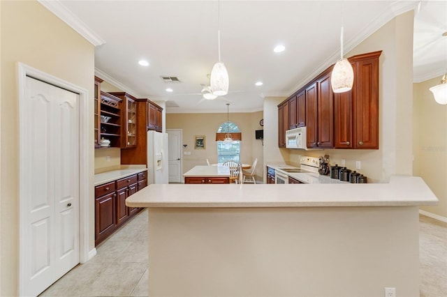
[[[232,113],[230,122],[236,123],[242,132],[240,158],[244,163],[258,158],[258,164],[263,164],[261,140],[254,139],[254,131],[261,129],[259,121],[263,119],[263,112]],[[191,152],[191,155],[183,155],[183,172],[196,165],[206,165],[206,159],[211,163],[217,162],[216,132],[219,126],[226,122],[227,114],[166,114],[166,129],[182,129],[183,152]],[[264,123],[265,127],[265,123]],[[205,149],[194,149],[194,135],[205,135]],[[261,178],[263,172],[261,166],[256,168],[256,175]]]

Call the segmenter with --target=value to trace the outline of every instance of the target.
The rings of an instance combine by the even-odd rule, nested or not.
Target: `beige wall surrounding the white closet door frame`
[[[0,295],[18,288],[18,111],[17,62],[87,89],[93,127],[94,46],[37,1],[0,1],[1,7],[1,233]],[[42,22],[45,20],[45,22]],[[94,248],[94,142],[89,147],[89,248]]]

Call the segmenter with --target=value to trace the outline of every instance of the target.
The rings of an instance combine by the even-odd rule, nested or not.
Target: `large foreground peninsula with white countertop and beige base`
[[[149,185],[149,296],[419,295],[422,178],[389,183]]]

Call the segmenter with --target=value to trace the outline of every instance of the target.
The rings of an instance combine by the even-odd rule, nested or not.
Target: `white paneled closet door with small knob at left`
[[[79,263],[79,96],[27,77],[25,97],[22,294],[36,296]]]

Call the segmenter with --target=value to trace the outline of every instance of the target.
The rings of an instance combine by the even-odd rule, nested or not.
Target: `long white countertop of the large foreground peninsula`
[[[149,185],[126,199],[131,207],[333,207],[436,205],[422,178],[390,183]]]

